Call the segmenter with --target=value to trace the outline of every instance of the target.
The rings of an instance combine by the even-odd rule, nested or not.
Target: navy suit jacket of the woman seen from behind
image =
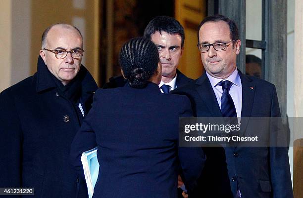
[[[97,141],[94,198],[177,198],[178,159],[193,189],[205,160],[202,149],[178,149],[178,118],[191,115],[187,97],[163,94],[152,82],[142,89],[99,89],[71,147],[81,171],[82,152]]]

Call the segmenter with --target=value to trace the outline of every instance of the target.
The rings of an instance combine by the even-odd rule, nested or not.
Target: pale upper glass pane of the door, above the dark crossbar
[[[246,39],[262,40],[262,0],[246,1]]]

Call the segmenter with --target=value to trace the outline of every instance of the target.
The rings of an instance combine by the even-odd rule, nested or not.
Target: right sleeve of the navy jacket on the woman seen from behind
[[[180,117],[192,117],[190,100],[184,96],[184,111]],[[196,180],[200,177],[206,156],[201,147],[178,147],[178,155],[182,172],[181,178],[185,184],[188,194],[197,186]]]

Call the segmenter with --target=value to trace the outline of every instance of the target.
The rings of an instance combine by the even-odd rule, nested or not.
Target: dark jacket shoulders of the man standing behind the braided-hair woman
[[[177,70],[176,73],[177,73],[176,84],[178,87],[183,86],[184,84],[193,80],[182,74],[179,70]],[[106,82],[102,88],[108,89],[108,88],[121,87],[124,86],[125,83],[126,83],[126,79],[124,79],[123,76],[115,76],[115,77],[111,77],[109,79],[109,82]]]

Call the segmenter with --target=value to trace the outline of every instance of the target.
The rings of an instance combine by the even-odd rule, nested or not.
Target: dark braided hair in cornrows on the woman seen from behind
[[[142,37],[126,42],[119,54],[121,69],[131,87],[143,88],[155,74],[160,62],[155,44]]]

